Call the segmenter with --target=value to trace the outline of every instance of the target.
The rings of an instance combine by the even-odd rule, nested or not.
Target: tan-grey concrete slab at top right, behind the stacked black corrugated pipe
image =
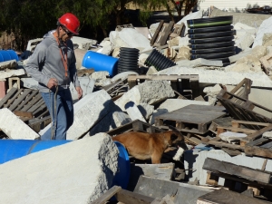
[[[218,8],[213,8],[210,17],[217,16],[233,16],[233,24],[242,23],[248,24],[251,27],[257,28],[260,24],[263,23],[264,20],[271,17],[272,15],[255,15],[255,14],[246,14],[246,13],[235,13],[235,12],[224,12]]]

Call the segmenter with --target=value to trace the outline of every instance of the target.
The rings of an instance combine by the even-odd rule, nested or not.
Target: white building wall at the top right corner
[[[243,12],[246,8],[262,7],[264,5],[272,6],[271,0],[199,0],[199,9],[206,11],[210,6],[215,6],[220,10],[234,12]]]

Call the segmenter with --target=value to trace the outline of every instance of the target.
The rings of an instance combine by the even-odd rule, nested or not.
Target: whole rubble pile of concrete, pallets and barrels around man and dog
[[[209,16],[200,10],[177,24],[118,26],[100,44],[73,37],[83,98],[77,99],[71,83],[69,142],[25,151],[22,158],[5,159],[2,145],[35,141],[52,125],[38,83],[24,71],[43,39],[30,41],[18,61],[0,63],[0,180],[6,184],[0,202],[272,202],[272,16],[258,18],[253,26],[257,15],[228,13],[232,24],[222,29],[233,40],[217,35],[220,46],[198,44],[199,53],[207,52],[192,52],[189,20],[223,13],[215,8]],[[231,54],[209,57],[216,55],[209,49]],[[90,62],[92,53],[101,63]],[[182,133],[188,150],[177,157],[180,146],[173,146],[157,164],[130,157],[129,167],[122,167],[127,172],[121,171],[125,144],[117,148],[112,137],[171,127]]]

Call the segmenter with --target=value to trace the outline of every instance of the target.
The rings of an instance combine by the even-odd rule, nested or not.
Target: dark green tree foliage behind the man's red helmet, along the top
[[[98,30],[102,30],[106,36],[111,24],[123,23],[128,3],[141,6],[140,17],[145,21],[151,11],[161,6],[166,7],[171,16],[174,0],[1,0],[0,33],[14,34],[16,49],[24,51],[29,40],[44,36],[56,27],[58,17],[71,12],[79,17],[85,32],[97,36]],[[185,5],[185,14],[189,14],[196,3],[197,0],[180,0],[180,5]],[[181,8],[174,6],[181,15]]]

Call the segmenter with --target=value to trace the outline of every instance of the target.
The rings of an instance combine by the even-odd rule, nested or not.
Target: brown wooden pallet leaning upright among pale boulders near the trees
[[[173,21],[170,21],[170,23],[167,24],[164,23],[163,20],[161,20],[159,26],[155,31],[155,34],[151,39],[151,46],[160,47],[162,45],[165,45],[170,36],[173,26],[174,26]]]

